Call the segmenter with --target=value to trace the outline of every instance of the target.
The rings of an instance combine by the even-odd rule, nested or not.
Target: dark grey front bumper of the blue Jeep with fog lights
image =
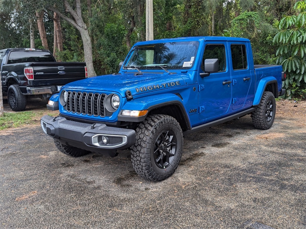
[[[116,150],[129,148],[135,143],[134,130],[100,123],[88,124],[45,115],[41,118],[41,127],[45,134],[59,139],[62,144],[111,157],[115,156]]]

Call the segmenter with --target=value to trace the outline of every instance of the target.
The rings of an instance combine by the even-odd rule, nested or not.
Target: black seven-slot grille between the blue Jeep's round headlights
[[[106,94],[67,91],[67,103],[64,110],[72,113],[93,116],[111,116],[112,112],[104,107]]]

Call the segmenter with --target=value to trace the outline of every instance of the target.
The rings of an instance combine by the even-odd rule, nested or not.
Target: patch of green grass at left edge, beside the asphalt
[[[0,117],[0,130],[32,123],[33,116],[34,113],[32,111],[21,111],[18,113],[5,112]]]

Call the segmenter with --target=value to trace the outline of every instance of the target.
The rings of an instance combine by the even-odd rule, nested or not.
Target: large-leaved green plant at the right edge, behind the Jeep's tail
[[[306,98],[306,2],[294,5],[298,15],[284,16],[278,24],[280,30],[273,42],[278,44],[277,63],[283,66],[287,77],[283,85],[285,97]]]

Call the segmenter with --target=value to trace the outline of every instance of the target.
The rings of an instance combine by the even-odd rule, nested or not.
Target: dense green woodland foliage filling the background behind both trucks
[[[44,9],[45,28],[49,49],[53,52],[53,12],[48,6],[65,12],[64,1],[59,0],[0,0],[0,49],[9,47],[29,47],[29,19],[36,20],[35,11]],[[68,0],[74,8],[74,0]],[[124,60],[129,48],[135,42],[145,40],[145,0],[122,1],[81,1],[82,19],[88,27],[92,43],[92,56],[98,75],[118,71],[118,64]],[[291,52],[301,53],[304,58],[306,33],[291,30],[297,22],[300,28],[306,22],[305,4],[297,3],[293,11],[294,0],[154,0],[153,21],[154,38],[172,38],[184,36],[236,36],[249,38],[252,43],[256,64],[275,64],[273,37],[281,27],[278,40],[278,57],[285,60]],[[304,4],[304,5],[303,5]],[[3,13],[6,11],[6,13]],[[2,13],[1,13],[2,12]],[[280,21],[282,15],[293,15]],[[300,24],[299,24],[300,23]],[[282,24],[285,27],[282,27]],[[84,61],[84,47],[79,31],[61,19],[63,50],[56,52],[62,61]],[[287,39],[296,37],[295,39]],[[290,49],[291,42],[301,44]],[[36,48],[42,47],[38,30],[35,30]],[[280,53],[282,56],[280,57]],[[299,67],[303,61],[297,60]],[[301,61],[303,63],[301,63]],[[290,67],[297,69],[296,62]],[[293,64],[292,64],[293,63]],[[288,62],[289,67],[289,62]],[[292,70],[293,71],[293,70]],[[301,71],[302,72],[302,69]],[[302,73],[300,73],[302,74]]]

